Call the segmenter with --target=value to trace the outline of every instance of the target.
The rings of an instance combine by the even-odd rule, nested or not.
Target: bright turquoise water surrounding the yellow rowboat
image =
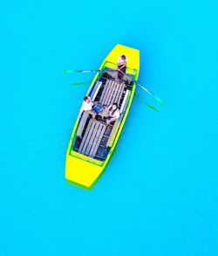
[[[215,1],[1,4],[0,255],[218,254]],[[105,174],[65,180],[92,75],[117,43],[140,49],[140,82]],[[138,88],[146,102],[159,107]]]

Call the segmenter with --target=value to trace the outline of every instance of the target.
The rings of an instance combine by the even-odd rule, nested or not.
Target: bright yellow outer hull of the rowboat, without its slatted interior
[[[128,75],[131,75],[134,80],[138,80],[140,72],[140,51],[124,45],[116,45],[112,49],[112,52],[110,52],[106,59],[103,61],[102,65],[99,67],[99,70],[116,68],[114,64],[116,65],[119,56],[123,54],[125,54],[127,57],[126,73]],[[97,73],[94,79],[92,80],[92,84],[88,90],[89,94],[92,93],[93,86],[96,85],[98,80],[99,73]],[[68,181],[88,189],[91,189],[93,184],[97,182],[99,176],[103,173],[103,170],[106,168],[106,164],[112,156],[112,152],[118,142],[119,135],[124,126],[127,114],[129,112],[133,100],[135,87],[136,85],[132,84],[131,91],[128,92],[128,100],[126,102],[124,114],[118,122],[117,128],[113,128],[113,134],[110,135],[111,142],[107,142],[108,145],[110,144],[110,147],[107,147],[109,152],[107,153],[106,159],[85,156],[85,154],[81,154],[79,150],[75,149],[74,144],[76,142],[78,127],[80,124],[80,119],[77,119],[72,131],[71,140],[69,142],[66,154],[65,177]]]

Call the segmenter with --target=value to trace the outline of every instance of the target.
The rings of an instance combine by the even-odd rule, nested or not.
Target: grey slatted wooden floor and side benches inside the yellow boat
[[[106,159],[112,146],[119,122],[126,111],[132,88],[128,81],[119,81],[116,77],[117,74],[113,72],[103,73],[93,86],[90,97],[104,106],[117,103],[120,110],[119,120],[106,126],[102,121],[93,120],[91,114],[83,113],[78,124],[77,139],[73,145],[74,151],[100,161]]]

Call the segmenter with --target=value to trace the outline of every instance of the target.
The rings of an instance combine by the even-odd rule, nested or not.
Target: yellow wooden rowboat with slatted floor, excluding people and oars
[[[117,63],[121,55],[127,57],[126,74],[122,80],[117,80]],[[138,80],[140,73],[140,51],[116,45],[99,70],[102,72],[95,75],[87,95],[102,105],[116,102],[119,119],[106,126],[101,121],[93,120],[91,114],[78,114],[65,164],[66,179],[89,189],[106,168],[126,121],[136,87],[133,80]]]

